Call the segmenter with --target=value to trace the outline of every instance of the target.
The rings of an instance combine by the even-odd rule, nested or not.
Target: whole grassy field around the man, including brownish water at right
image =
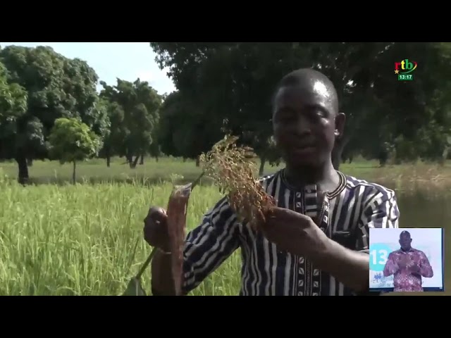
[[[142,220],[149,206],[166,206],[171,175],[192,180],[199,168],[191,161],[169,158],[158,163],[148,159],[135,170],[122,162],[116,159],[111,168],[101,160],[82,163],[78,165],[80,183],[73,185],[68,183],[70,165],[35,161],[29,169],[36,184],[28,187],[10,180],[17,175],[16,163],[0,163],[0,177],[10,177],[0,178],[0,295],[123,292],[151,251],[142,239]],[[276,169],[268,166],[266,172]],[[449,165],[377,168],[376,163],[358,161],[340,170],[397,189],[402,227],[445,227],[451,239]],[[194,189],[188,227],[196,226],[219,198],[207,180]],[[450,253],[447,250],[447,256]],[[445,263],[447,292],[441,295],[451,294],[451,263]],[[145,273],[146,290],[149,280],[150,273]],[[239,288],[237,251],[192,294],[235,295]]]

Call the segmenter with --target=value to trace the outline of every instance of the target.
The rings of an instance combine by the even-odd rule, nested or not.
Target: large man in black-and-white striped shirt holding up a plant
[[[370,227],[397,227],[395,193],[334,170],[331,153],[345,114],[330,80],[311,69],[286,75],[273,98],[273,136],[285,168],[261,179],[278,201],[254,232],[239,223],[226,198],[187,235],[185,293],[237,248],[240,295],[351,295],[369,289]],[[316,221],[316,223],[315,223]],[[152,207],[144,238],[161,250],[152,262],[154,294],[173,294],[166,213]],[[165,252],[166,251],[166,252]]]

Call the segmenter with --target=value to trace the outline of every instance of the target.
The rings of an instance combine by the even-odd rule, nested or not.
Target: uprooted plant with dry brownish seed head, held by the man
[[[276,205],[276,200],[266,193],[259,180],[254,177],[256,166],[252,149],[237,146],[237,139],[226,136],[216,143],[211,151],[202,154],[199,158],[203,168],[202,175],[192,184],[174,185],[169,197],[166,213],[175,295],[183,294],[183,245],[187,204],[192,188],[199,183],[203,175],[211,177],[220,191],[227,195],[230,207],[237,214],[238,220],[247,221],[254,228],[257,227],[258,219],[264,220],[265,211]],[[155,252],[154,249],[137,276],[130,280],[124,295],[145,295],[140,277],[152,261]]]

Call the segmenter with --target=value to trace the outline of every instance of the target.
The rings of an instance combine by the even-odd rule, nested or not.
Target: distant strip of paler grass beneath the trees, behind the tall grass
[[[121,158],[113,158],[111,167],[107,168],[102,159],[95,159],[77,165],[77,181],[82,184],[127,182],[147,186],[168,182],[174,174],[182,175],[180,182],[194,180],[200,173],[193,161],[183,161],[180,158],[161,158],[158,162],[146,159],[144,165],[130,169],[123,164]],[[8,177],[17,177],[17,164],[14,161],[0,163],[0,168]],[[264,175],[274,173],[282,166],[266,165]],[[444,166],[429,163],[405,163],[402,165],[387,165],[379,168],[377,161],[364,161],[355,158],[353,163],[343,163],[340,170],[348,175],[385,184],[397,190],[418,190],[451,188],[451,161]],[[55,161],[35,161],[30,171],[30,182],[33,184],[65,185],[72,179],[72,165],[60,165]],[[208,179],[203,180],[209,183]]]

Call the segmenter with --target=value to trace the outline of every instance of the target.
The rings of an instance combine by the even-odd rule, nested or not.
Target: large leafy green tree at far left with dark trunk
[[[57,118],[80,118],[99,136],[109,132],[106,111],[97,97],[97,74],[77,58],[65,58],[47,46],[7,46],[0,50],[9,84],[27,92],[26,112],[14,124],[14,136],[6,144],[15,158],[18,179],[28,179],[27,158],[47,158],[49,131]]]

